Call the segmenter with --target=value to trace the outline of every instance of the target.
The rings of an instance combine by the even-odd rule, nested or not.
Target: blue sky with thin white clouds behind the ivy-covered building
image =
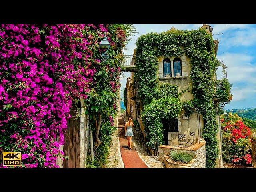
[[[142,34],[162,32],[172,26],[180,30],[198,29],[203,24],[134,24],[138,34],[126,46],[124,54],[132,55],[136,40]],[[256,107],[256,24],[210,24],[213,36],[220,38],[217,58],[224,61],[228,80],[232,84],[232,102],[225,109]],[[219,71],[219,70],[218,70]],[[130,72],[123,72],[121,90],[126,85]],[[218,78],[222,78],[218,73]],[[122,93],[121,93],[122,94]]]

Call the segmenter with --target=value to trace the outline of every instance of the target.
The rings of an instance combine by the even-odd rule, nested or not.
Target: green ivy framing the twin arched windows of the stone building
[[[212,99],[215,95],[215,68],[219,62],[215,57],[212,36],[207,34],[204,29],[192,31],[171,30],[159,34],[149,33],[138,38],[136,47],[137,72],[135,81],[138,84],[138,93],[144,106],[144,118],[150,120],[150,122],[144,120],[145,130],[149,131],[149,134],[151,134],[150,130],[154,129],[162,131],[160,117],[164,115],[164,112],[158,112],[157,109],[160,111],[164,109],[160,109],[156,103],[168,104],[167,101],[164,102],[161,99],[160,101],[154,100],[154,98],[159,97],[157,57],[180,57],[185,54],[190,58],[193,104],[200,109],[204,120],[202,136],[206,140],[206,167],[215,167],[215,160],[218,157],[218,141],[216,138],[218,125],[216,123],[216,109]],[[177,99],[176,102],[179,103],[179,100]],[[177,106],[177,104],[175,105]],[[153,106],[157,109],[154,110]],[[162,107],[166,106],[162,105]],[[150,123],[154,118],[156,119],[155,127],[152,127]],[[161,140],[162,134],[152,135],[148,144],[152,144],[151,140],[154,137]]]

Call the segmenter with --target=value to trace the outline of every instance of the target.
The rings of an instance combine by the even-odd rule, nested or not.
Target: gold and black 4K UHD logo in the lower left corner
[[[21,152],[3,152],[3,166],[21,166]]]

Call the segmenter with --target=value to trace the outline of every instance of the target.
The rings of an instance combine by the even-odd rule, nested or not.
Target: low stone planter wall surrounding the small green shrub
[[[205,144],[205,140],[202,139],[200,143],[197,142],[187,148],[168,145],[158,146],[159,160],[162,160],[166,164],[166,168],[183,168],[184,166],[189,168],[205,168]],[[170,160],[169,154],[171,150],[186,150],[194,153],[196,157],[188,164],[179,164]]]

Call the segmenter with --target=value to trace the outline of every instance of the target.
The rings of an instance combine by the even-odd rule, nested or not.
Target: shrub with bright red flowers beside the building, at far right
[[[228,162],[251,164],[250,128],[237,114],[221,119],[223,159]]]

